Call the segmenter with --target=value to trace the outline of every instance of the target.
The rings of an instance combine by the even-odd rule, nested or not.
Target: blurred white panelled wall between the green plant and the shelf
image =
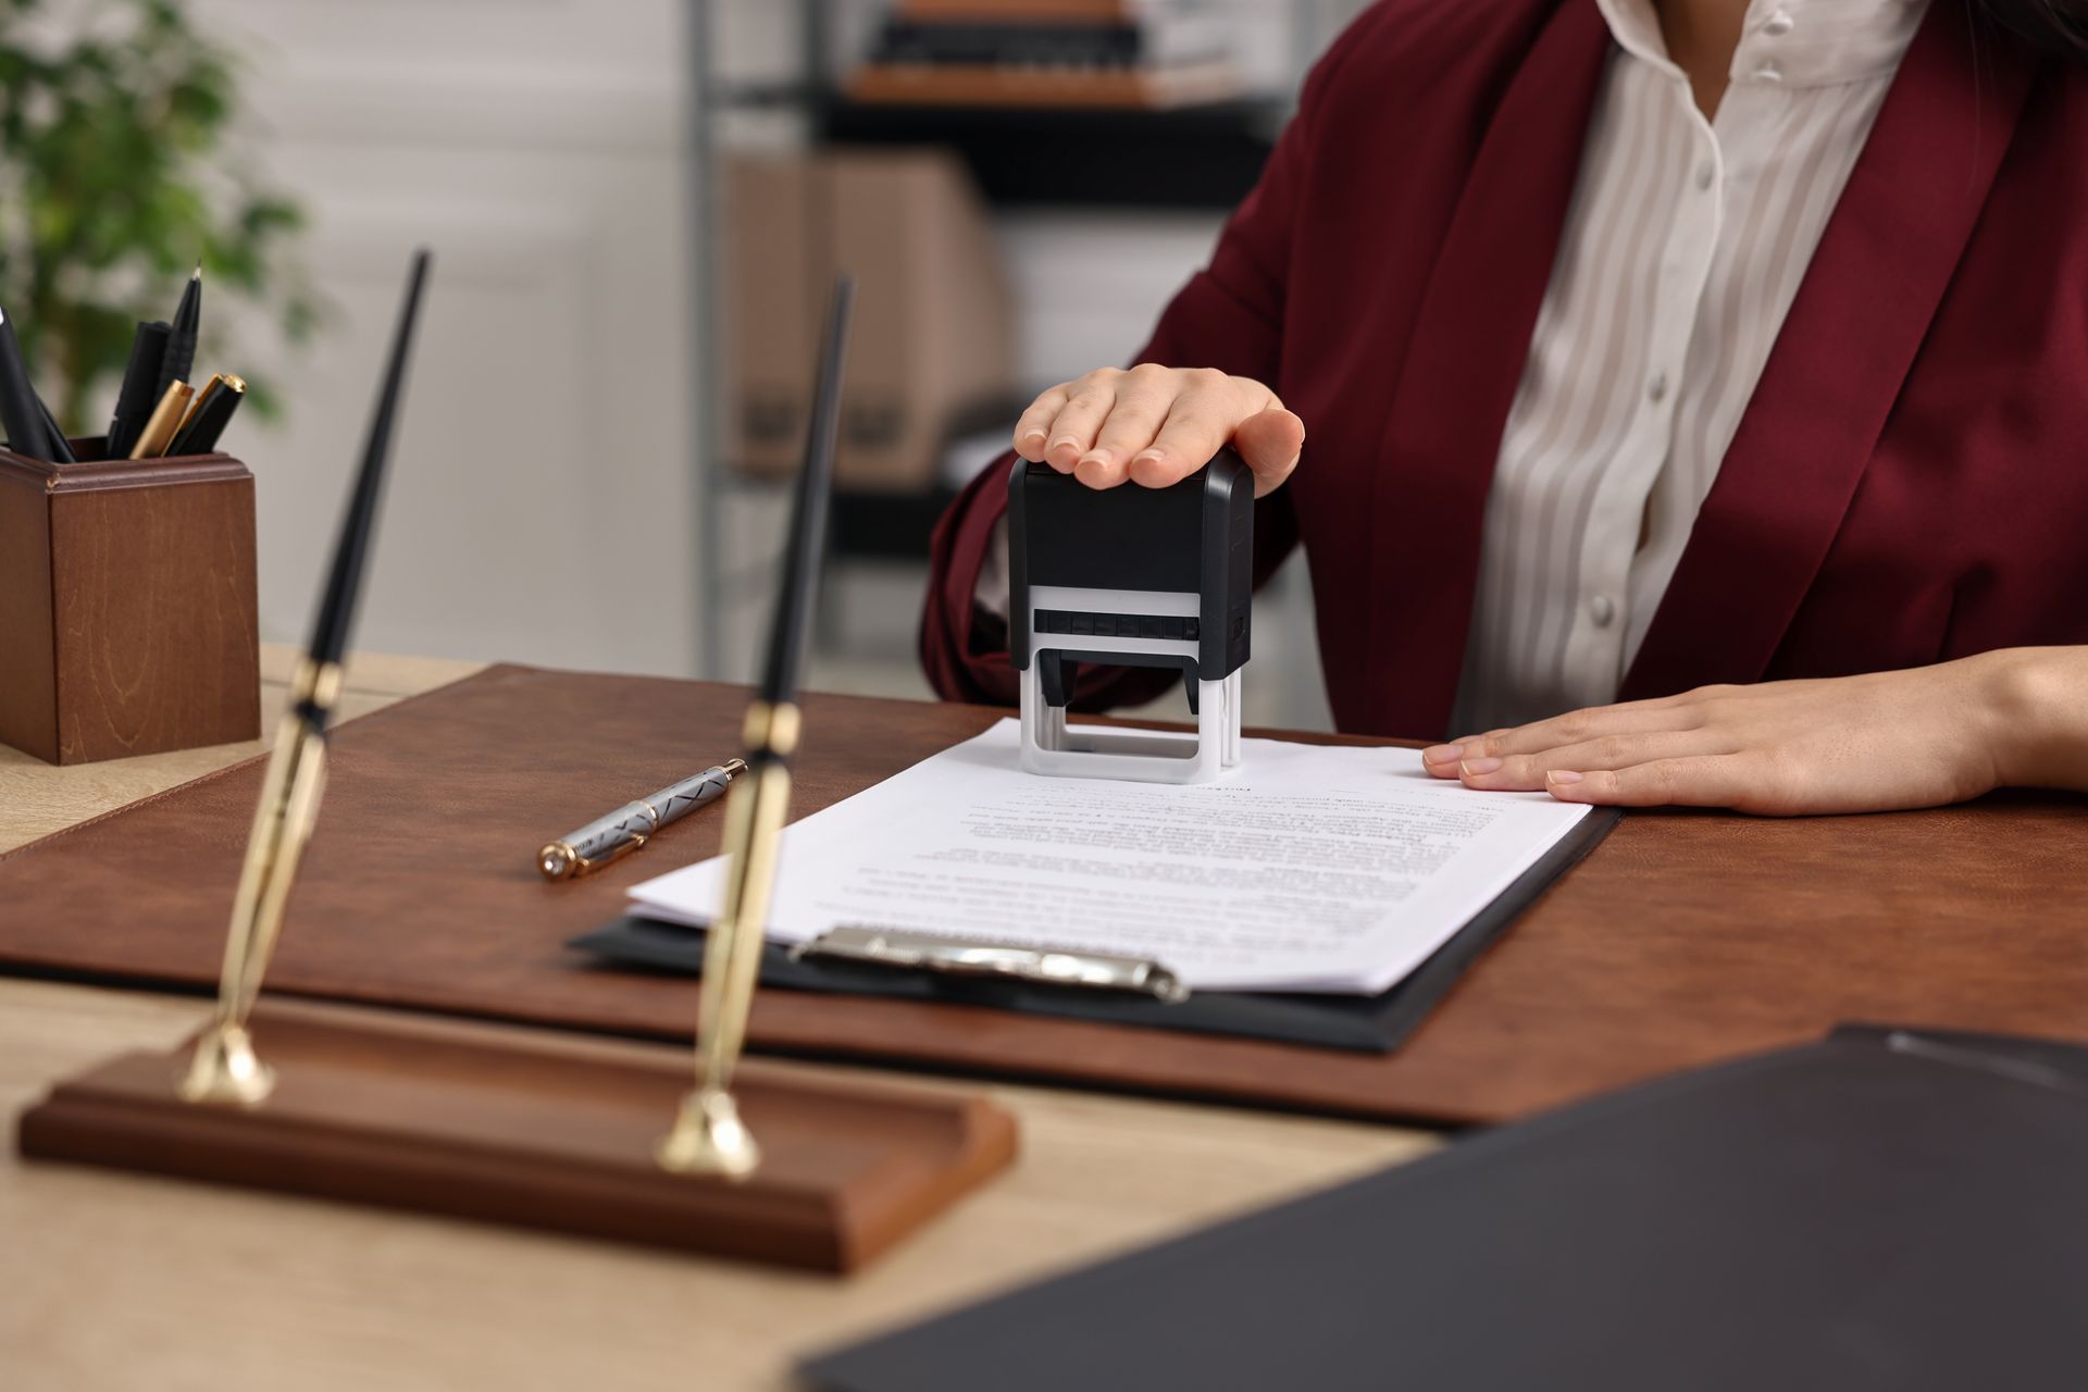
[[[269,369],[261,624],[299,637],[413,244],[434,275],[357,643],[687,672],[695,597],[674,0],[194,0],[338,319]],[[207,301],[209,305],[209,301]]]

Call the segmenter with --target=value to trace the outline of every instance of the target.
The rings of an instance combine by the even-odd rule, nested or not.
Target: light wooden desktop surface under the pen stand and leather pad
[[[271,728],[290,657],[263,649],[261,668]],[[359,657],[342,714],[474,670]],[[50,768],[0,749],[0,849],[257,751]],[[205,1012],[198,1000],[0,979],[10,1131],[52,1079],[119,1050],[167,1046]],[[23,1165],[10,1142],[0,1156],[0,1386],[787,1388],[793,1354],[1437,1144],[1389,1127],[973,1087],[1021,1119],[1021,1160],[850,1281]]]

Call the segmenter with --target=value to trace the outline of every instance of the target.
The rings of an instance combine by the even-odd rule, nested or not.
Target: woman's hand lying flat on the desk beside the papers
[[[2088,649],[1702,687],[1579,710],[1422,751],[1437,778],[1560,801],[1883,812],[2002,785],[2088,787]]]

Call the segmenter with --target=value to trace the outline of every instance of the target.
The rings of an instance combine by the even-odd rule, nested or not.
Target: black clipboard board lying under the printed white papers
[[[1516,914],[1610,835],[1614,808],[1595,808],[1545,856],[1457,929],[1420,968],[1382,995],[1307,995],[1276,991],[1196,991],[1182,1002],[1150,995],[1050,985],[1006,977],[956,977],[931,970],[796,958],[779,943],[762,956],[762,983],[796,991],[848,991],[904,1000],[948,1000],[1109,1025],[1150,1025],[1211,1035],[1244,1035],[1332,1050],[1391,1054],[1420,1027],[1449,987],[1508,931]],[[622,916],[568,943],[622,966],[699,973],[704,931]]]

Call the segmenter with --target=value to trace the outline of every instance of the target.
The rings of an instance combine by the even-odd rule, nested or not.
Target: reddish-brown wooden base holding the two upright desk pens
[[[760,1169],[672,1175],[654,1152],[687,1050],[294,1004],[251,1025],[265,1104],[184,1102],[186,1041],[58,1083],[21,1152],[835,1273],[1015,1158],[986,1100],[754,1066],[735,1094]]]

